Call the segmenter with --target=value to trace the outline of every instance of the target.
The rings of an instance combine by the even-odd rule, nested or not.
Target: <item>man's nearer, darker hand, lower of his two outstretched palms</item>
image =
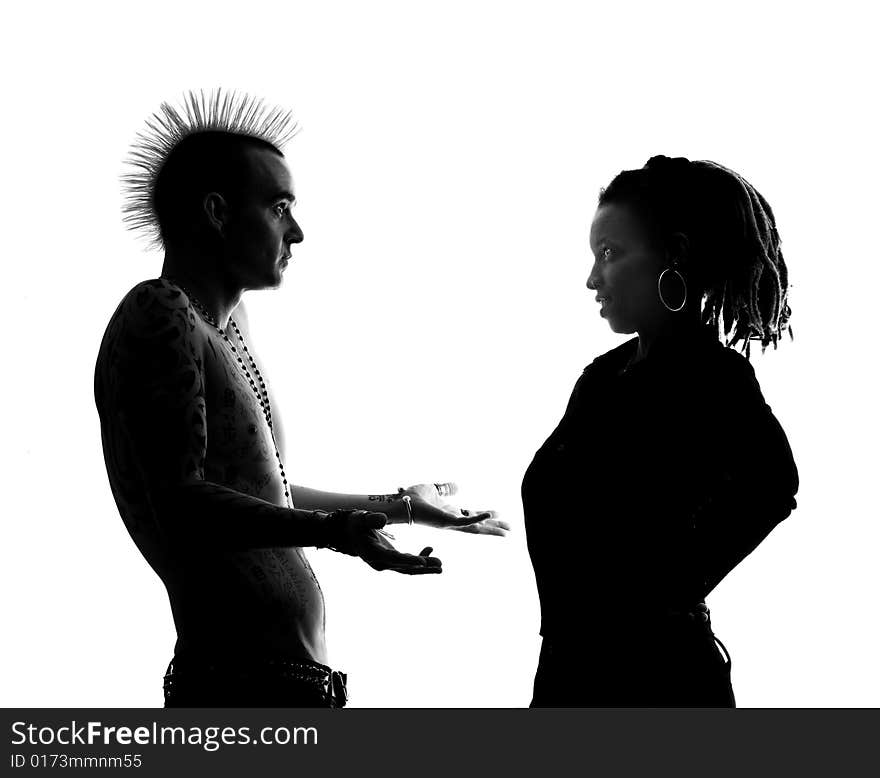
[[[380,530],[387,521],[384,513],[334,511],[325,521],[332,522],[330,548],[349,556],[359,556],[374,570],[394,570],[406,575],[443,572],[443,564],[431,556],[432,548],[416,556],[402,554]]]

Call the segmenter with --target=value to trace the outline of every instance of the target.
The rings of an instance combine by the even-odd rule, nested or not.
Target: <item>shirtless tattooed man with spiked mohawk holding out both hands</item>
[[[95,401],[119,512],[171,602],[166,707],[344,705],[346,678],[327,665],[323,596],[303,548],[435,574],[430,548],[401,553],[382,528],[508,529],[490,511],[443,502],[452,484],[352,495],[288,481],[276,403],[240,303],[247,290],[277,287],[303,240],[281,153],[296,131],[289,112],[261,100],[191,92],[148,122],[124,178],[127,223],[165,259],[110,320]]]

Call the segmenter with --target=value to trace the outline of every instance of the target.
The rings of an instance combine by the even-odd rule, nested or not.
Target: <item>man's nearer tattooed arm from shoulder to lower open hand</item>
[[[202,343],[186,295],[163,279],[125,298],[108,329],[99,400],[133,455],[165,537],[248,550],[329,546],[377,569],[439,572],[439,560],[397,552],[377,535],[380,514],[326,513],[273,505],[205,480],[207,417]]]

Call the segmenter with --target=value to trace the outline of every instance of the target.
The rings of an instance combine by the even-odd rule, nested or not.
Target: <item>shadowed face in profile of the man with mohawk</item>
[[[225,225],[227,272],[244,289],[281,283],[291,245],[303,239],[291,209],[293,177],[284,157],[269,149],[247,149],[244,189]]]

